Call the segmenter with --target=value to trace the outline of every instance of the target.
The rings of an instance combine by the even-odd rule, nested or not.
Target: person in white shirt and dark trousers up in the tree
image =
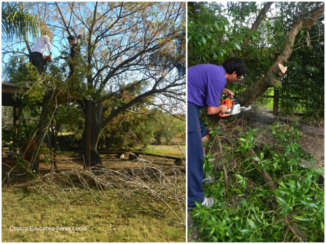
[[[46,48],[50,53],[47,57],[51,59],[52,47],[51,47],[50,38],[47,35],[47,33],[44,33],[44,35],[41,35],[37,39],[36,44],[30,54],[30,62],[32,63],[32,65],[36,67],[40,75],[45,72],[46,60],[44,58],[44,53]]]

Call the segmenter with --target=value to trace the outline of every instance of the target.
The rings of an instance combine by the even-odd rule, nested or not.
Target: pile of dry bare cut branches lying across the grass
[[[168,168],[160,168],[144,160],[133,162],[133,167],[129,169],[118,170],[75,166],[50,172],[15,187],[38,187],[51,200],[54,194],[68,207],[69,200],[64,192],[74,192],[80,197],[80,190],[88,191],[98,203],[98,194],[105,198],[105,190],[114,189],[119,198],[140,203],[138,211],[150,212],[185,225],[185,174],[180,167],[171,164]]]

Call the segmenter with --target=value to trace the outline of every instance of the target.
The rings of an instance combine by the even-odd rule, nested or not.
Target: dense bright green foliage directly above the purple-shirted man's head
[[[229,20],[219,4],[200,4],[196,14],[188,7],[188,63],[219,64],[225,57],[239,54],[241,43],[249,33],[241,19]]]

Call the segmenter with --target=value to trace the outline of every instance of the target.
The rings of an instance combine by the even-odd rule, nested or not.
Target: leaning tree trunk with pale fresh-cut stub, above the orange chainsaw
[[[240,98],[240,104],[244,106],[249,106],[254,102],[256,98],[262,96],[267,88],[276,87],[281,84],[280,79],[286,72],[286,67],[283,66],[287,62],[287,59],[293,51],[293,45],[295,37],[302,30],[311,28],[311,26],[316,22],[318,18],[322,16],[324,12],[324,4],[318,7],[317,10],[312,10],[312,17],[309,19],[298,19],[288,32],[286,36],[286,42],[283,48],[283,52],[278,56],[274,65],[268,70],[262,79],[252,84],[248,89],[246,89]]]

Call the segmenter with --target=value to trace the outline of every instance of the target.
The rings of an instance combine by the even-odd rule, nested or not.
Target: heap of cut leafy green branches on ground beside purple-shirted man
[[[259,138],[267,135],[273,136],[270,143],[258,147]],[[204,185],[215,203],[192,211],[202,241],[289,242],[294,235],[286,219],[292,219],[308,241],[324,241],[324,186],[318,184],[323,169],[300,164],[302,159],[314,160],[298,143],[300,136],[295,125],[275,123],[263,131],[240,133],[234,149],[224,146],[225,157],[232,155],[237,168],[229,172],[229,198],[222,171],[215,173],[218,180]],[[257,169],[271,176],[274,188]]]

